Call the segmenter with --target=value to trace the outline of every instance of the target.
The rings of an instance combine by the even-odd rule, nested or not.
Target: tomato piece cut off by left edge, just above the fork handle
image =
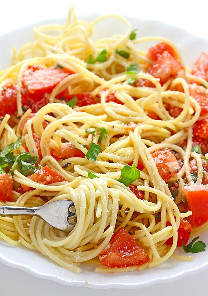
[[[0,174],[0,199],[4,201],[12,200],[14,180],[10,174]]]

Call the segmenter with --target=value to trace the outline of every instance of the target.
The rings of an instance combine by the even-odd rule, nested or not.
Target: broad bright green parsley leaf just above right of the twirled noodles
[[[134,163],[133,166],[126,164],[121,170],[121,176],[118,181],[129,187],[129,185],[139,177],[140,171],[136,168],[136,164]]]

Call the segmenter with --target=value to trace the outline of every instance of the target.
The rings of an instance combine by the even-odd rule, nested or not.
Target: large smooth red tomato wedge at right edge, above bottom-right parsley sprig
[[[183,195],[192,211],[190,223],[193,227],[208,221],[208,185],[191,185],[183,188]]]

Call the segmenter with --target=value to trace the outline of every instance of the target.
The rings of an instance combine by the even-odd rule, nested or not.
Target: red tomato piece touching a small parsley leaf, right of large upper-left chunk
[[[90,92],[70,95],[68,89],[65,89],[57,96],[59,100],[65,100],[67,102],[72,100],[74,97],[77,97],[76,106],[79,107],[88,106],[96,103]]]

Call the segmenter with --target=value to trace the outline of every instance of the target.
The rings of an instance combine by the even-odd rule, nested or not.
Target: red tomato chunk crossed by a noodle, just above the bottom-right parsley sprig
[[[166,223],[166,226],[170,226],[170,225],[171,223],[168,221]],[[181,218],[181,222],[178,229],[177,246],[182,247],[182,245],[184,246],[187,245],[190,235],[191,235],[191,224],[187,220],[184,220],[183,218]],[[166,244],[167,245],[173,244],[173,236],[168,238],[168,240],[166,241]]]

